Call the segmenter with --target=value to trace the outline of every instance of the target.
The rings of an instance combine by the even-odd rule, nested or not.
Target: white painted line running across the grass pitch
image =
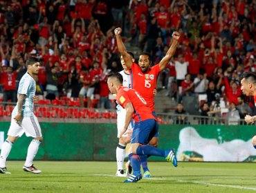
[[[116,175],[108,175],[108,174],[93,174],[93,176],[109,176],[109,177],[117,177]],[[158,180],[158,181],[170,181],[170,179],[166,178],[149,178],[146,180]],[[171,180],[171,181],[176,181],[176,180]],[[184,182],[184,183],[196,183],[196,184],[203,184],[203,185],[212,185],[212,186],[219,186],[219,187],[232,187],[232,188],[237,188],[241,190],[254,190],[256,191],[256,187],[244,187],[240,185],[226,185],[226,184],[219,184],[219,183],[205,183],[203,181],[181,181],[178,180],[179,182]]]

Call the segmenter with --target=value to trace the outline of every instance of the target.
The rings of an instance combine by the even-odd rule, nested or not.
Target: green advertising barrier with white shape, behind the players
[[[0,148],[10,122],[0,122]],[[44,140],[35,159],[115,161],[115,123],[40,123]],[[158,148],[174,148],[179,161],[256,161],[254,125],[160,125]],[[21,136],[8,159],[24,160],[31,139]],[[164,161],[150,157],[149,161]]]

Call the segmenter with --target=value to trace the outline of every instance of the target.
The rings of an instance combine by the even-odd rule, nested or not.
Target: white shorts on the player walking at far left
[[[25,116],[21,123],[17,123],[15,119],[10,121],[10,128],[8,130],[8,135],[10,136],[22,136],[22,134],[26,134],[26,136],[32,136],[33,138],[38,138],[42,136],[41,127],[37,120],[37,117],[34,116]]]

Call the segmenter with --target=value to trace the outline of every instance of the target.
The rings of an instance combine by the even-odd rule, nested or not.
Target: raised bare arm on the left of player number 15
[[[118,43],[118,51],[122,55],[122,58],[125,61],[126,67],[128,69],[130,69],[133,61],[132,61],[130,55],[128,54],[128,52],[126,50],[124,43],[122,42],[122,37],[121,37],[122,29],[121,28],[116,28],[114,30],[114,33],[116,35],[116,42]]]

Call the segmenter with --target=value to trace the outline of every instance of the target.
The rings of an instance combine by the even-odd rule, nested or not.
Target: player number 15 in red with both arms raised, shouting
[[[156,90],[156,83],[159,73],[165,70],[165,68],[167,68],[167,64],[169,63],[169,61],[174,56],[174,53],[176,52],[180,34],[178,32],[173,32],[172,45],[167,51],[165,57],[163,57],[160,63],[154,65],[153,67],[150,67],[152,61],[150,60],[149,54],[140,54],[137,65],[136,63],[134,63],[134,61],[131,60],[125,48],[125,45],[122,43],[122,38],[120,36],[122,29],[116,28],[114,32],[116,34],[118,50],[125,61],[125,65],[130,70],[131,88],[134,88],[136,91],[140,93],[141,96],[143,96],[145,101],[147,101],[149,108],[152,110],[154,116],[156,116],[153,90]],[[152,140],[149,141],[149,144],[156,147],[158,145],[158,136],[159,134],[156,133]],[[144,172],[145,176],[151,176],[148,168]]]

